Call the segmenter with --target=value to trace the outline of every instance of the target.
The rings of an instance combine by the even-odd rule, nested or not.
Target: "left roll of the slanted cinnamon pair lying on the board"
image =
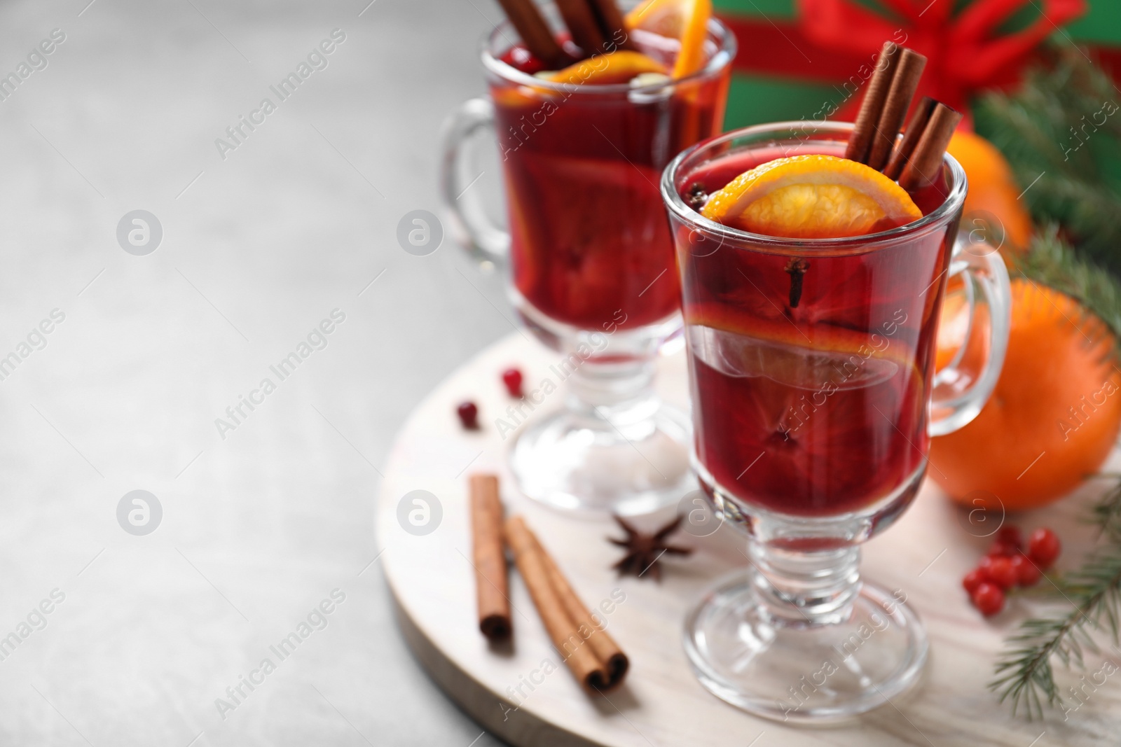
[[[576,624],[560,599],[560,595],[549,579],[548,564],[539,552],[539,544],[521,516],[506,522],[506,541],[513,551],[515,562],[529,589],[541,623],[553,641],[553,645],[564,656],[565,663],[582,684],[592,690],[608,687],[606,666],[595,655],[591,645],[581,637]]]

